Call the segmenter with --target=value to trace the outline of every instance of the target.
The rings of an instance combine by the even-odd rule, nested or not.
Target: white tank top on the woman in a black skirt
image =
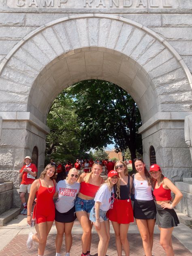
[[[140,181],[138,179],[133,180],[134,184],[134,198],[136,200],[141,200],[141,201],[150,201],[153,200],[151,188],[152,186],[148,186],[148,182],[146,180]]]

